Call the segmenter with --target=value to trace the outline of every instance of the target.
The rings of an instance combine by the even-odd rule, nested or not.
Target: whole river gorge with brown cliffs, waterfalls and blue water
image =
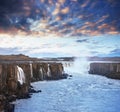
[[[103,110],[114,112],[115,109],[119,109],[119,106],[115,106],[119,101],[116,101],[116,97],[113,96],[115,91],[120,91],[119,80],[90,75],[107,76],[112,74],[114,77],[110,78],[119,79],[120,68],[118,61],[116,63],[102,63],[100,61],[95,63],[84,58],[46,59],[45,61],[45,59],[32,60],[32,58],[31,60],[27,58],[23,60],[24,56],[20,58],[21,55],[17,57],[18,60],[12,60],[11,58],[9,60],[7,58],[7,61],[5,61],[6,59],[2,59],[3,61],[0,62],[0,111],[34,112],[37,108],[36,112],[45,112],[47,109],[51,109],[52,112],[62,112],[63,110],[67,112],[93,112],[101,106],[103,107],[98,112]],[[88,74],[88,71],[90,74]],[[68,79],[66,79],[68,77],[66,73],[70,74]],[[71,78],[72,76],[73,78]],[[58,79],[66,80],[49,81]],[[42,93],[39,93],[41,90]],[[38,94],[33,94],[31,97],[33,92]],[[100,93],[98,94],[98,92]],[[108,92],[110,93],[108,94]],[[106,94],[109,100],[114,100],[113,103],[107,104],[108,99],[105,96]],[[104,96],[104,100],[102,97],[99,98],[101,95]],[[98,101],[100,107],[96,106],[95,108],[91,105],[91,101],[96,102],[93,96]],[[84,101],[85,99],[86,101]],[[104,105],[102,105],[103,101],[105,102]],[[74,102],[73,105],[72,102]],[[26,103],[28,107],[25,106]],[[58,103],[62,108],[58,106]],[[111,104],[114,106],[111,110],[109,110],[110,107],[106,108]],[[70,105],[72,106],[70,107]],[[85,105],[87,106],[87,110],[85,110]]]

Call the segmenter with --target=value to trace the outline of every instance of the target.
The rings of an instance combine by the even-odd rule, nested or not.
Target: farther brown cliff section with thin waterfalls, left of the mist
[[[61,63],[33,63],[33,81],[58,80],[66,78]]]

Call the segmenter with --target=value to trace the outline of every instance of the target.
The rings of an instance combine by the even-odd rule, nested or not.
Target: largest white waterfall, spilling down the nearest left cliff
[[[17,66],[17,80],[18,82],[23,85],[25,83],[25,74],[21,67]]]

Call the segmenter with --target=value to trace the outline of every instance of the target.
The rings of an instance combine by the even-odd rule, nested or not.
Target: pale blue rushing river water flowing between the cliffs
[[[33,83],[42,92],[17,100],[15,112],[119,112],[120,81],[87,74],[86,65],[66,69],[72,78]]]

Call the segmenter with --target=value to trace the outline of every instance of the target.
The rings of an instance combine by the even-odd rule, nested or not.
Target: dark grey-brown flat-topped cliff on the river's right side
[[[91,63],[89,73],[120,79],[120,63]]]

